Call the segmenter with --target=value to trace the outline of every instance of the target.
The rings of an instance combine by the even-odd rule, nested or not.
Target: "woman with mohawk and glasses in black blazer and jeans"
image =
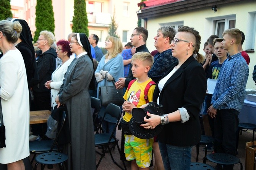
[[[148,113],[150,118],[144,118],[147,123],[141,125],[146,129],[164,126],[158,140],[166,170],[190,169],[192,146],[201,139],[199,106],[204,101],[207,85],[204,69],[194,58],[194,55],[203,57],[198,53],[200,41],[199,32],[194,28],[178,29],[170,44],[178,62],[170,66],[153,94],[153,102],[166,114]]]

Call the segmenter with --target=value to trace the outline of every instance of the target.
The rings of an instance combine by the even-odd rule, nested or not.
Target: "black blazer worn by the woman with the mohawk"
[[[170,66],[170,70],[163,78],[176,65],[178,65],[178,62]],[[199,143],[201,140],[199,105],[204,101],[206,89],[204,69],[193,56],[189,57],[167,80],[160,96],[157,83],[153,94],[153,102],[157,102],[159,96],[159,105],[164,113],[172,113],[178,108],[184,107],[190,115],[189,120],[185,123],[175,121],[164,125],[164,129],[158,135],[160,142],[174,146],[193,146]]]

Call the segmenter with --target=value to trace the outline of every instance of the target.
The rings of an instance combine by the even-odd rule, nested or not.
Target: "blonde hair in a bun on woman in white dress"
[[[11,21],[2,20],[0,21],[0,31],[3,32],[3,36],[6,37],[8,42],[15,44],[22,31],[22,26],[18,21],[12,23]]]

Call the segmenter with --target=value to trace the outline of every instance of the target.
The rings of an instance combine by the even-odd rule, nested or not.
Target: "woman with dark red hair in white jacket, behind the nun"
[[[70,51],[69,41],[67,40],[59,40],[57,42],[57,57],[62,60],[62,63],[56,68],[56,70],[52,73],[52,79],[45,83],[45,87],[51,89],[51,104],[52,109],[57,105],[55,102],[55,98],[60,91],[60,86],[63,83],[64,75],[68,66],[72,62],[73,59],[70,59],[70,55],[72,52]]]

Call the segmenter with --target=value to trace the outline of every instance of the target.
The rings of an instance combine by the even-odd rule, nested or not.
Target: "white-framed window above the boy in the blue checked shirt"
[[[222,32],[226,29],[235,28],[235,18],[215,20],[215,35],[222,37]]]

